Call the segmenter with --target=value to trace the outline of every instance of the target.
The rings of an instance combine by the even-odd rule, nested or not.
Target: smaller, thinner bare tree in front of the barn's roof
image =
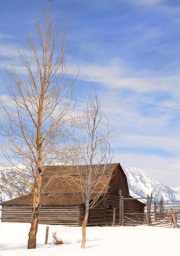
[[[111,178],[109,164],[112,157],[107,141],[109,137],[108,122],[103,121],[96,93],[94,96],[88,96],[85,115],[87,118],[83,126],[85,131],[83,150],[79,154],[80,162],[84,164],[83,168],[79,166],[79,177],[85,202],[81,248],[85,248],[89,210],[99,203],[100,198],[105,196],[105,189]]]

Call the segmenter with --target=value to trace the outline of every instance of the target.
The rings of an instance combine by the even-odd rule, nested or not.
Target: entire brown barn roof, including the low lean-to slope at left
[[[104,172],[103,179],[93,191],[91,199],[95,197],[104,184],[103,193],[109,192],[109,174],[113,176],[114,170],[122,167],[120,164],[99,164],[93,165],[93,169],[97,171],[97,176]],[[81,186],[79,185],[79,173],[85,174],[87,166],[45,166],[42,174],[42,189],[41,196],[42,205],[80,205],[84,203]],[[124,174],[126,178],[126,174]],[[5,201],[2,205],[32,205],[32,194],[24,195]]]

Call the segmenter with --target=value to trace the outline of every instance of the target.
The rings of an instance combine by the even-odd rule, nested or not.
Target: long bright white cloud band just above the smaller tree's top
[[[77,65],[74,65],[77,67]],[[75,68],[76,69],[76,68]],[[166,91],[180,92],[180,76],[158,76],[152,75],[143,77],[136,76],[130,70],[125,69],[122,65],[113,62],[108,65],[89,65],[83,63],[79,66],[79,79],[100,83],[109,89],[126,88],[136,92]]]

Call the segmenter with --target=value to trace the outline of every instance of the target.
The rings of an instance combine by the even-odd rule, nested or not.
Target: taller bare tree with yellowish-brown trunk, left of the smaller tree
[[[24,74],[12,67],[11,105],[3,104],[1,122],[4,156],[34,177],[28,249],[36,248],[44,165],[68,162],[75,121],[72,93],[76,77],[68,75],[64,64],[64,32],[52,21],[50,9],[43,17],[41,22],[37,15],[34,22],[37,40],[28,36],[30,55],[19,53]]]

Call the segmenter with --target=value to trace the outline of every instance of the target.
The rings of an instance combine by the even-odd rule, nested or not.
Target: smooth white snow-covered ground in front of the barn
[[[46,225],[39,225],[37,249],[28,250],[30,224],[0,222],[0,255],[179,255],[180,229],[136,227],[88,227],[87,245],[81,249],[81,227],[50,226],[48,245],[44,245]],[[52,244],[52,232],[64,245]]]

